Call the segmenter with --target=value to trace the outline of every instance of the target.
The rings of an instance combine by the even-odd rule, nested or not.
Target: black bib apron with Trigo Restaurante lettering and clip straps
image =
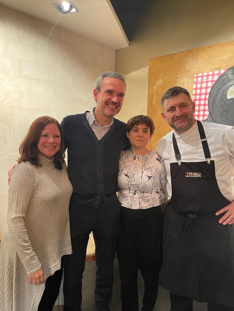
[[[219,224],[222,215],[215,215],[230,202],[219,190],[202,123],[197,125],[205,161],[181,162],[173,134],[178,162],[170,164],[160,285],[199,302],[234,306],[234,227]]]

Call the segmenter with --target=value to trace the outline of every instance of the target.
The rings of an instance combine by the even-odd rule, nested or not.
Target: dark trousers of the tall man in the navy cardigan
[[[96,255],[95,311],[108,311],[112,299],[113,261],[117,247],[120,203],[89,207],[70,202],[72,254],[64,256],[64,311],[79,311],[86,248],[93,231]]]

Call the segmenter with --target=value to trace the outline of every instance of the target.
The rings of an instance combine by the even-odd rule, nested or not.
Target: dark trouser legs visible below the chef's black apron
[[[193,299],[174,295],[170,292],[171,309],[170,311],[193,311]],[[207,303],[208,311],[234,311],[234,307],[223,304]]]

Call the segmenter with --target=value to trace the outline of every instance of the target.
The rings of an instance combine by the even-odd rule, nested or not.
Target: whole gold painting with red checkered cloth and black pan
[[[149,60],[148,115],[155,132],[150,142],[171,131],[161,116],[160,99],[172,86],[186,88],[200,121],[234,126],[234,41],[209,45]]]

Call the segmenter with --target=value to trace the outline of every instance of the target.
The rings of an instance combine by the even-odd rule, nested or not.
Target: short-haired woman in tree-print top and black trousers
[[[153,120],[144,115],[127,122],[132,148],[121,152],[118,186],[121,224],[118,241],[122,311],[138,311],[138,268],[144,280],[144,311],[152,311],[158,295],[162,261],[163,213],[167,200],[166,171],[147,144],[154,132]]]

